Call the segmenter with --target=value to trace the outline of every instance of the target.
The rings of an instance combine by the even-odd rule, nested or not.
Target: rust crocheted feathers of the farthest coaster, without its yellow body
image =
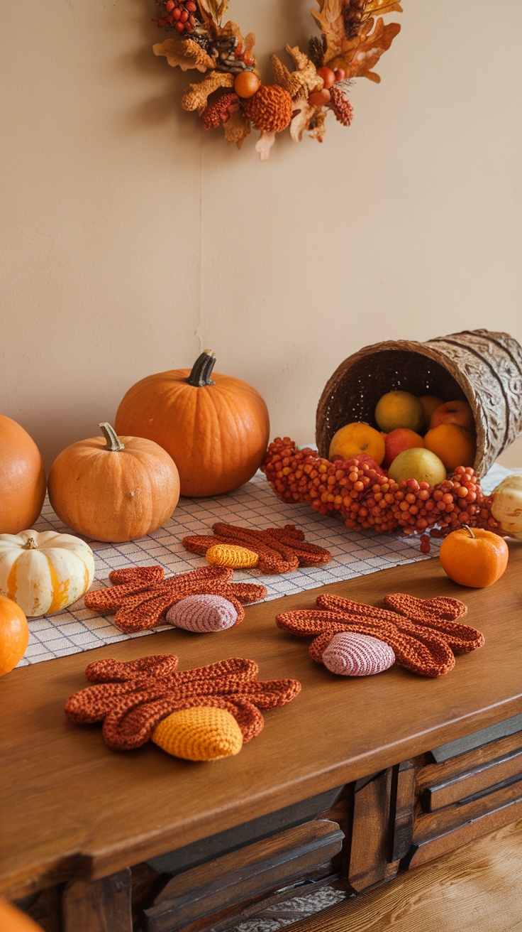
[[[257,554],[258,568],[263,573],[288,573],[298,567],[318,567],[331,560],[328,550],[305,541],[303,532],[294,525],[253,530],[218,523],[212,525],[212,530],[214,537],[184,537],[183,547],[193,554],[206,555],[215,544],[234,544]]]

